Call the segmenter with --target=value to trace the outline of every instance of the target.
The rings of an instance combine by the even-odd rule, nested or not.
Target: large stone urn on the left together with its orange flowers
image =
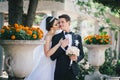
[[[42,41],[40,28],[14,24],[0,29],[0,45],[5,52],[5,69],[9,76],[24,78],[33,66],[33,51]]]

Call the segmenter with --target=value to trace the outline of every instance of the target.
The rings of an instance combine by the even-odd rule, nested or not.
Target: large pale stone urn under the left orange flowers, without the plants
[[[0,40],[5,53],[5,69],[9,76],[24,78],[34,67],[33,51],[42,40]]]

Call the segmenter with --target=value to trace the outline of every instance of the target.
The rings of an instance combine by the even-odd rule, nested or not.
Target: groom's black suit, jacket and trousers
[[[72,35],[72,46],[75,46],[75,40],[79,41],[78,48],[80,49],[80,55],[78,56],[77,62],[83,59],[84,52],[81,37],[79,35]],[[65,39],[64,32],[55,35],[52,39],[52,47],[54,47],[59,40],[63,38]],[[65,50],[62,47],[59,47],[57,51],[51,55],[52,60],[56,60],[56,68],[54,74],[54,80],[75,80],[74,78],[78,75],[79,68],[77,62],[73,62],[72,66],[70,67],[70,58],[66,55]]]

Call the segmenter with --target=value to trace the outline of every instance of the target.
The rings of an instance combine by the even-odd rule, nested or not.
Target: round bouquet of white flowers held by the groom
[[[76,47],[76,46],[71,46],[68,47],[68,49],[66,50],[66,55],[68,56],[72,56],[72,55],[76,55],[79,56],[80,50]],[[72,60],[70,62],[70,66],[72,65]]]

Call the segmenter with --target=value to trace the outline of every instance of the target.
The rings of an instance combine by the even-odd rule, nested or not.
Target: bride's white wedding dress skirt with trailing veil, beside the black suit
[[[36,66],[25,80],[54,80],[56,61],[44,54],[43,45],[38,46],[34,51],[34,61]]]

